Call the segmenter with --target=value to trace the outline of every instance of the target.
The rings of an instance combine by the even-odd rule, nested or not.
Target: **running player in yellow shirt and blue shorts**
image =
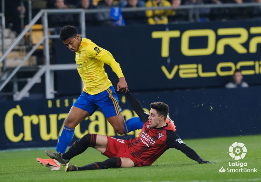
[[[128,86],[119,64],[113,55],[93,43],[90,39],[81,38],[73,26],[65,26],[60,32],[60,39],[71,51],[75,52],[77,70],[84,83],[83,93],[71,107],[59,136],[56,152],[63,154],[73,138],[75,127],[86,117],[92,115],[98,107],[102,109],[106,119],[115,132],[124,134],[142,128],[143,123],[135,120],[138,128],[124,124],[122,109],[112,83],[104,71],[104,63],[108,64],[119,77],[117,91],[127,92]],[[135,125],[135,122],[129,122]],[[131,128],[131,130],[129,129]],[[59,170],[60,164],[53,159],[37,158],[37,161],[52,170]]]

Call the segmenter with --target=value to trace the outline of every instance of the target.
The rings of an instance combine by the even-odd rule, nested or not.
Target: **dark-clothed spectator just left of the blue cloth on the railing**
[[[102,0],[99,1],[97,5],[97,9],[110,9],[112,7],[115,7],[113,4],[113,0]],[[110,12],[99,12],[96,15],[96,19],[99,23],[99,25],[110,25],[113,26],[112,18],[110,17]]]

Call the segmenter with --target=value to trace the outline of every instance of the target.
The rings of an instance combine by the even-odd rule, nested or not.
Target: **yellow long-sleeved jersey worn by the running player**
[[[124,77],[113,55],[90,39],[81,39],[79,50],[75,52],[75,61],[78,73],[84,83],[83,90],[91,95],[98,94],[112,86],[104,71],[104,63],[108,64],[119,78]]]

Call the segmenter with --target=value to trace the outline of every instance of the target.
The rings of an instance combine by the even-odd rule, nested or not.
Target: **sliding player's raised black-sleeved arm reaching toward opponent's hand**
[[[139,103],[139,101],[131,94],[129,90],[125,93],[125,95],[131,105],[131,108],[137,113],[140,120],[144,123],[148,121],[149,114],[147,114],[143,110],[142,105]]]

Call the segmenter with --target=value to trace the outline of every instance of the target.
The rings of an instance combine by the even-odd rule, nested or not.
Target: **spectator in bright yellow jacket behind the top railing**
[[[171,6],[171,3],[166,0],[148,0],[145,4],[146,7],[160,7]],[[175,10],[147,10],[146,16],[148,17],[148,23],[154,24],[167,24],[168,16],[175,15]]]

